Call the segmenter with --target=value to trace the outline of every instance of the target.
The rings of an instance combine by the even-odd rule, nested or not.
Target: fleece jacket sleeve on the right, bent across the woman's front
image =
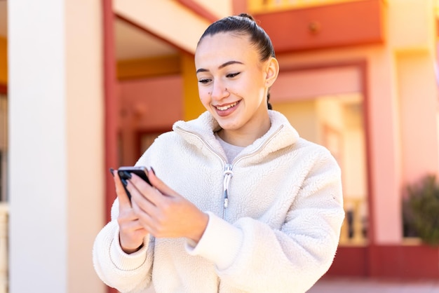
[[[249,217],[229,224],[210,214],[189,253],[213,261],[222,283],[245,292],[306,292],[330,268],[344,219],[339,167],[329,152],[320,154],[281,229]]]

